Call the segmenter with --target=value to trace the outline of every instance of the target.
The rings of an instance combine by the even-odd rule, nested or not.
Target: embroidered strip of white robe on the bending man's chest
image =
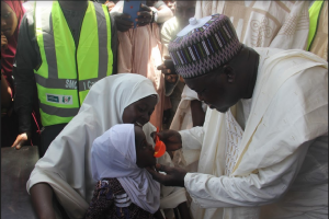
[[[239,146],[243,136],[243,130],[232,116],[230,110],[226,113],[226,153],[225,153],[225,175],[229,175],[236,165],[239,154]]]

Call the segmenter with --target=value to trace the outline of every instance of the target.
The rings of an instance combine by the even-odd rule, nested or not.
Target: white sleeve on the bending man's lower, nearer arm
[[[311,142],[282,162],[243,177],[188,173],[185,188],[202,208],[261,206],[282,197],[296,177]]]

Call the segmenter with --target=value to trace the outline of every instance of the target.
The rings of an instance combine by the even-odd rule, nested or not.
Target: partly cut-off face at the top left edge
[[[15,12],[8,5],[8,3],[1,1],[1,32],[5,37],[13,35],[18,27],[18,16]]]

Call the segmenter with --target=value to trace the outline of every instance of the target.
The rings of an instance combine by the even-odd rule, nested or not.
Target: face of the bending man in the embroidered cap
[[[197,93],[200,101],[225,113],[240,100],[240,95],[236,82],[228,82],[227,74],[222,71],[219,68],[202,77],[185,79],[185,83]]]

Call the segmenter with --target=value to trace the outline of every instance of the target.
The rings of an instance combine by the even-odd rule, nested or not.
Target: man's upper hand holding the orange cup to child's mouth
[[[155,139],[156,132],[151,134],[151,137]],[[166,145],[167,151],[175,151],[182,148],[182,137],[177,130],[162,130],[157,134],[159,139]]]

